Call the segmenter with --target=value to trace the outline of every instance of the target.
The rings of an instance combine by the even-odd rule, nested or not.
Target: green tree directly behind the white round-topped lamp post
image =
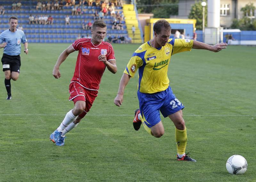
[[[202,1],[198,1],[191,6],[188,18],[196,19],[196,29],[203,29],[203,7],[201,5]],[[207,26],[207,4],[204,7],[204,26]]]

